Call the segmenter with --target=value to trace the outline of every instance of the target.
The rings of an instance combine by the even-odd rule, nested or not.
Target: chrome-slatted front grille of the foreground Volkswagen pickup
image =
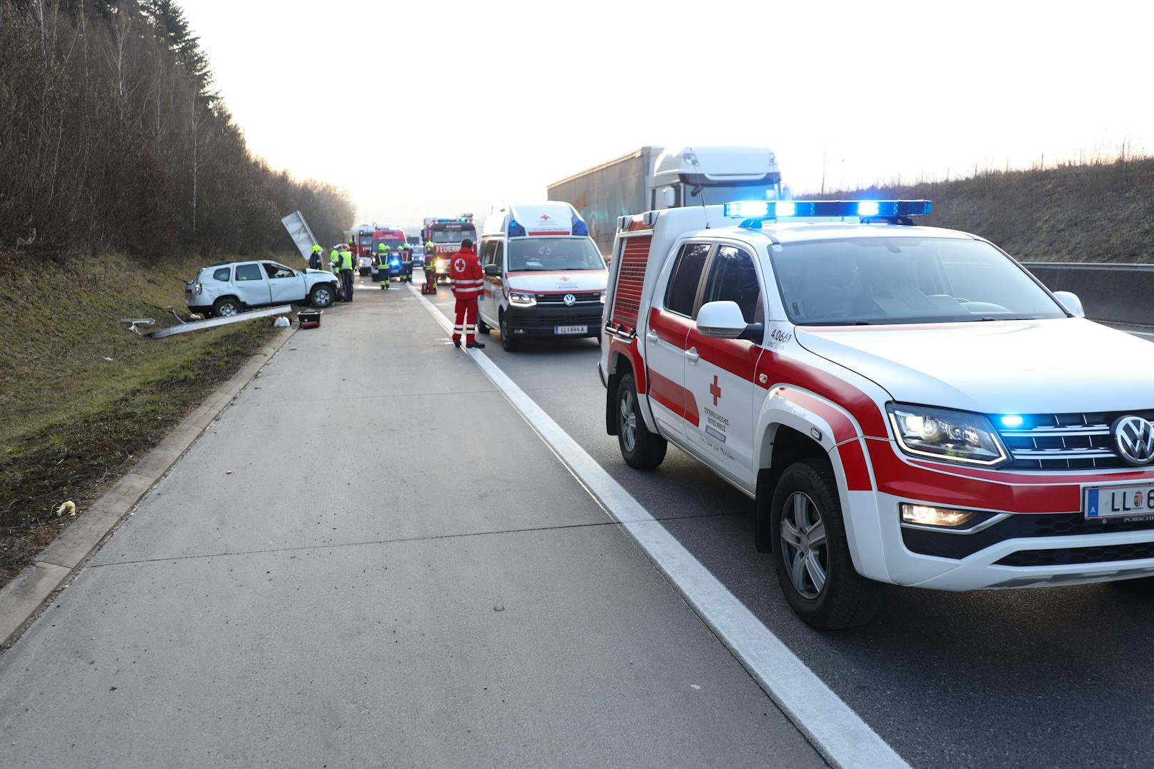
[[[1118,456],[1110,425],[1132,413],[1149,419],[1154,411],[1024,415],[1017,428],[998,433],[1013,456],[1007,470],[1095,470],[1127,468]]]

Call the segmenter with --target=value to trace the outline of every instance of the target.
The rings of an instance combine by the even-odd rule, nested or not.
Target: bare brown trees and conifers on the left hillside
[[[287,251],[322,244],[349,195],[254,157],[174,0],[0,0],[0,251]]]

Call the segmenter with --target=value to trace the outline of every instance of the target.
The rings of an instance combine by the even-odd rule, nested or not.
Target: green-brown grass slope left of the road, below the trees
[[[83,515],[272,334],[262,319],[151,339],[119,322],[175,323],[207,261],[0,259],[0,584],[69,523],[62,501]]]

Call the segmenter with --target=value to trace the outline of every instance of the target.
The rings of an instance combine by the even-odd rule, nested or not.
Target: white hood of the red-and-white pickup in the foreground
[[[982,413],[1154,408],[1154,344],[1081,318],[795,330],[810,352],[905,403]]]

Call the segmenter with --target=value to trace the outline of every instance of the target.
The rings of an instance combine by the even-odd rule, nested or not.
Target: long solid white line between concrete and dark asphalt
[[[412,291],[442,328],[452,328],[433,303]],[[466,352],[830,763],[870,769],[908,767],[488,356],[475,349]]]

